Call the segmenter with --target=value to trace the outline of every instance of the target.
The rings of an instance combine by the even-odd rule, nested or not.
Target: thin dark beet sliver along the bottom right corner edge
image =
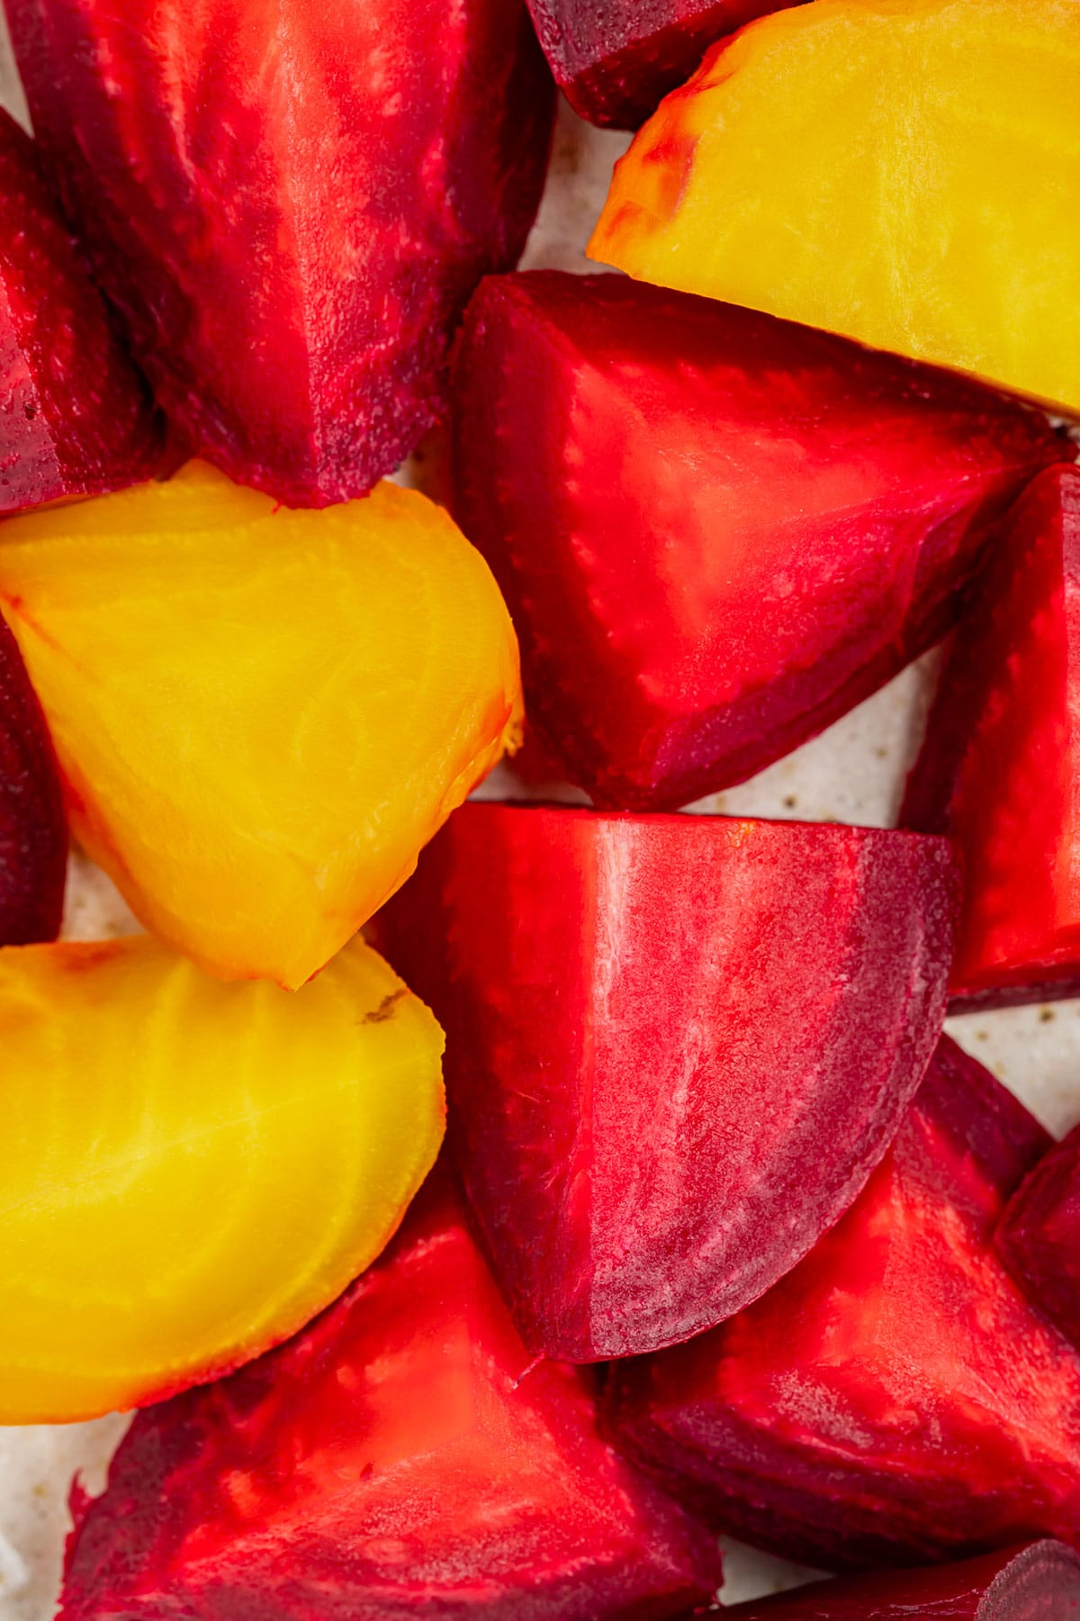
[[[1080,1621],[1080,1558],[1061,1542],[926,1571],[874,1571],[735,1605],[732,1621]]]

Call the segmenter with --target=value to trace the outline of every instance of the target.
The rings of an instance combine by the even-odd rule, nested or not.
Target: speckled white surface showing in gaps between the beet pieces
[[[2,23],[0,23],[2,28]],[[0,36],[0,96],[19,109]],[[627,136],[589,130],[565,107],[552,173],[525,264],[586,269],[581,248],[599,212],[610,169]],[[703,801],[703,810],[889,825],[923,721],[934,655],[905,671],[816,741],[740,788]],[[505,791],[504,773],[487,793]],[[125,934],[133,917],[87,861],[74,858],[65,934]],[[1080,1002],[980,1013],[950,1023],[952,1034],[988,1063],[1044,1120],[1064,1131],[1080,1120]],[[47,1621],[53,1613],[66,1498],[76,1470],[100,1490],[126,1420],[0,1428],[0,1621]],[[724,1598],[735,1602],[801,1579],[795,1566],[729,1545]]]

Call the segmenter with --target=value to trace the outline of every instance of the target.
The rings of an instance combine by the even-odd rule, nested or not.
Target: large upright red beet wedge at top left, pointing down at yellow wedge
[[[554,88],[523,0],[5,0],[39,139],[191,447],[291,506],[440,412],[517,263]]]

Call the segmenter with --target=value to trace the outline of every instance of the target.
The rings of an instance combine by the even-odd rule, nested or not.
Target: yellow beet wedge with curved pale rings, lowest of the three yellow
[[[146,935],[11,947],[0,1042],[0,1423],[142,1405],[285,1339],[442,1138],[442,1031],[359,940],[296,995]]]

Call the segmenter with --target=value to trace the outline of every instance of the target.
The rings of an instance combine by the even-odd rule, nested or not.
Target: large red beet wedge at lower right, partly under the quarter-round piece
[[[1077,1545],[1080,1355],[993,1248],[1046,1143],[942,1041],[847,1216],[730,1323],[619,1363],[610,1433],[714,1525],[826,1569]]]

